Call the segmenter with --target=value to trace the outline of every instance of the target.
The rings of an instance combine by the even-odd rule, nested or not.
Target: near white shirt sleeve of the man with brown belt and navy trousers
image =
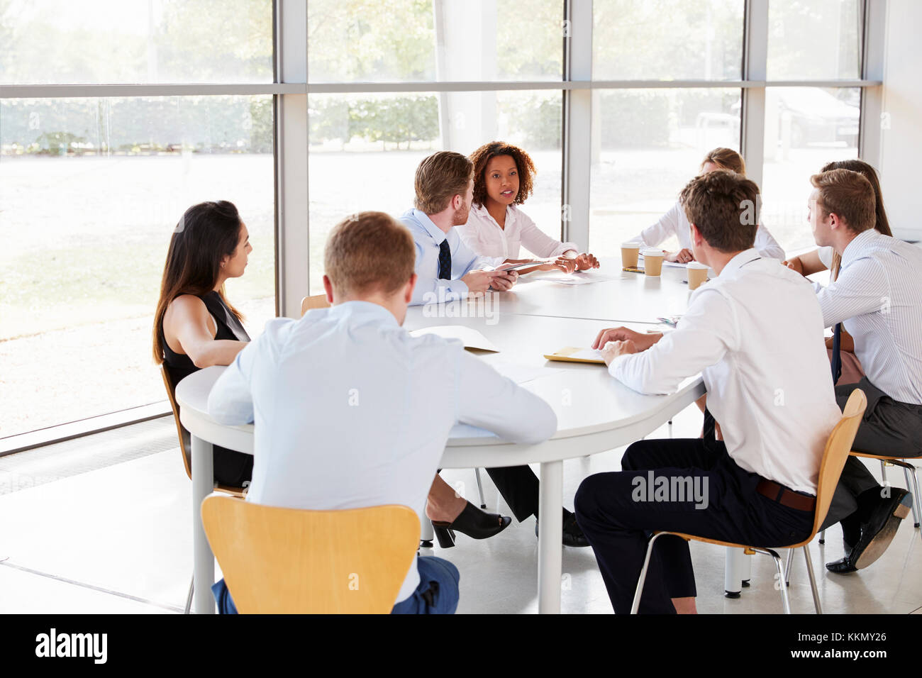
[[[675,330],[646,351],[615,358],[609,374],[639,393],[675,393],[683,379],[733,350],[738,334],[733,309],[724,296],[702,289]]]

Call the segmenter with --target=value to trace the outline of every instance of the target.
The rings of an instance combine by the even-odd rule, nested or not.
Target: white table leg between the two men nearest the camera
[[[541,464],[538,498],[538,613],[561,613],[563,462]]]

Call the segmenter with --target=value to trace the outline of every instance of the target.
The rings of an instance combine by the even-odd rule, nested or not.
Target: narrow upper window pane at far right
[[[858,0],[772,0],[768,79],[860,77],[860,5]]]

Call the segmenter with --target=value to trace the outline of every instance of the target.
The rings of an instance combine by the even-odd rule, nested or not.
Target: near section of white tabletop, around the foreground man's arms
[[[638,439],[631,438],[635,426],[658,420],[664,410],[678,411],[703,394],[700,377],[686,379],[671,396],[644,396],[613,379],[605,365],[546,361],[544,353],[566,346],[588,348],[598,331],[617,324],[539,315],[498,315],[493,318],[424,317],[422,309],[411,308],[405,322],[408,329],[438,325],[474,327],[490,339],[498,353],[484,353],[487,363],[518,363],[549,368],[552,374],[523,385],[548,401],[557,415],[558,431],[551,441],[562,443],[590,434],[619,434],[611,447]],[[643,327],[643,326],[640,326]],[[183,425],[210,442],[253,454],[253,426],[221,426],[207,414],[207,398],[223,367],[208,367],[183,379],[176,387]],[[648,432],[645,432],[648,433]],[[502,445],[502,460],[491,459],[484,446]],[[443,457],[447,468],[471,466],[513,466],[517,463],[573,458],[585,454],[578,445],[567,445],[570,452],[561,456],[561,445],[514,446],[482,429],[464,424],[452,429]],[[453,448],[457,448],[453,451]],[[463,449],[467,448],[467,449]],[[510,456],[510,455],[514,455]]]

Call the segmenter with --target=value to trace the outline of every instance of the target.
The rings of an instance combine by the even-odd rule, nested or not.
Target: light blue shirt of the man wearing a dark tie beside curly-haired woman
[[[420,303],[455,302],[467,298],[464,278],[472,270],[496,267],[507,257],[477,256],[459,237],[455,226],[443,232],[425,212],[408,209],[400,221],[413,234],[416,244],[416,288],[412,305]],[[452,280],[439,279],[439,252],[442,241],[447,240],[452,253]]]

